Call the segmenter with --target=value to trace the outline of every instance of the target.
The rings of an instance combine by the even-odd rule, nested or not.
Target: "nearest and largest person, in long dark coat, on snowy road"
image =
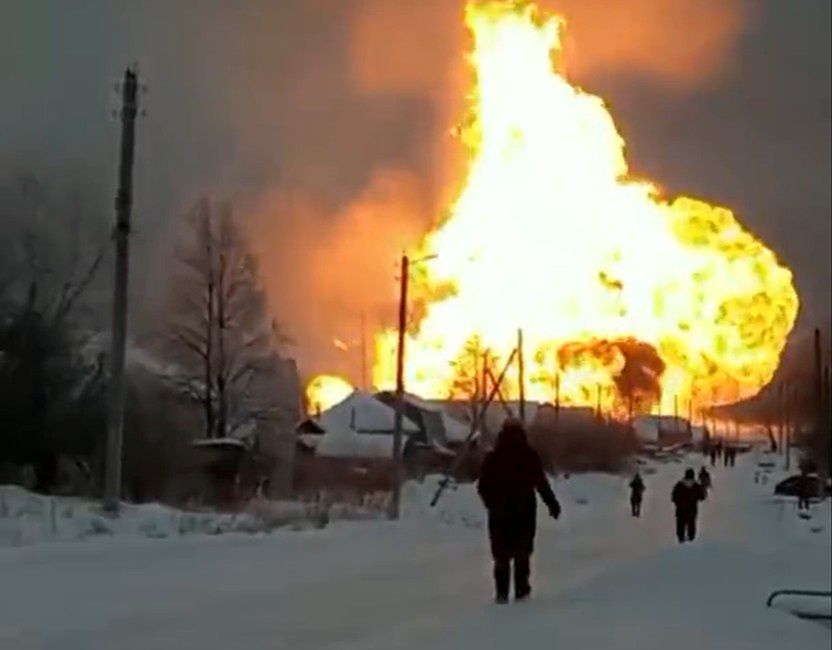
[[[535,492],[555,519],[560,516],[560,504],[518,420],[509,419],[503,424],[496,446],[483,460],[477,491],[488,510],[496,600],[508,601],[512,563],[514,597],[523,600],[531,593],[529,561],[536,528]]]

